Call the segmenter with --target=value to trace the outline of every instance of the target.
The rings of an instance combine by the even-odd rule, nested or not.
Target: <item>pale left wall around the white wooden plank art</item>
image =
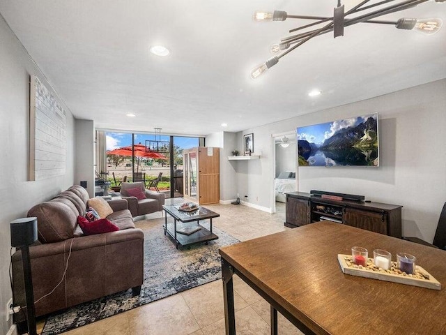
[[[66,174],[51,179],[28,181],[29,165],[29,76],[38,75],[20,42],[0,15],[0,334],[6,334],[6,302],[12,293],[9,282],[10,221],[26,216],[34,204],[42,202],[73,184],[74,119],[66,114]],[[54,91],[52,91],[54,93]],[[55,94],[57,97],[57,95]]]

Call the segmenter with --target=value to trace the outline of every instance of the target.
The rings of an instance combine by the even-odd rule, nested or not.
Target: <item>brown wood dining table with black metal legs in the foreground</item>
[[[338,254],[362,246],[415,255],[441,290],[344,274]],[[233,274],[304,334],[446,334],[446,251],[322,221],[220,249],[226,335],[236,334]]]

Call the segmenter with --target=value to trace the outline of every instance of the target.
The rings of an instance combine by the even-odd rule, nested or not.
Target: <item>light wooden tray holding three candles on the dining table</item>
[[[393,283],[419,286],[420,288],[430,288],[432,290],[441,290],[441,284],[436,278],[433,278],[428,271],[419,265],[415,266],[415,274],[406,274],[406,272],[397,269],[397,262],[392,262],[390,269],[384,270],[378,269],[374,265],[373,258],[367,260],[366,266],[353,264],[351,255],[338,254],[337,259],[344,274],[373,278],[380,281],[392,281]]]

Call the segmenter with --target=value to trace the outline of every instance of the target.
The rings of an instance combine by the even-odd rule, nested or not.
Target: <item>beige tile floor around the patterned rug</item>
[[[276,214],[232,204],[206,207],[220,214],[220,218],[213,221],[217,228],[240,241],[246,241],[289,229],[284,227],[284,204],[277,204]],[[234,291],[237,334],[270,334],[269,304],[237,276],[234,276]],[[42,327],[43,323],[40,322]],[[192,288],[64,334],[224,335],[222,281]],[[279,315],[279,334],[302,333]]]

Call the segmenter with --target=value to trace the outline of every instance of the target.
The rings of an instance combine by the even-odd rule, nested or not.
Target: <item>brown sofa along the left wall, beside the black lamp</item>
[[[144,234],[134,227],[127,200],[109,202],[107,218],[120,230],[84,236],[77,216],[86,214],[89,194],[72,186],[49,202],[37,204],[28,216],[38,219],[38,243],[29,248],[36,316],[132,288],[139,295],[144,278]],[[70,251],[71,249],[71,251]],[[13,255],[15,304],[24,306],[22,255]],[[20,315],[20,313],[18,314]],[[17,320],[20,322],[20,320]]]

